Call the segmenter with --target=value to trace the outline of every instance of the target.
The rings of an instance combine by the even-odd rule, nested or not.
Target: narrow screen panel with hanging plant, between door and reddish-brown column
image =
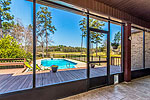
[[[111,74],[121,73],[121,25],[110,24],[110,43]]]

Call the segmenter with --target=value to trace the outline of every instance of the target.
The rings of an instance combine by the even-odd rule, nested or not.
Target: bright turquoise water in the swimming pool
[[[45,67],[51,67],[52,65],[57,65],[58,69],[67,69],[67,68],[75,68],[77,63],[65,60],[65,59],[45,59],[41,60],[41,65]]]

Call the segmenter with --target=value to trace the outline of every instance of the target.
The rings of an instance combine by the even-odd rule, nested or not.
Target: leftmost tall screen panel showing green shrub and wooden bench
[[[4,1],[10,5],[6,6]],[[0,94],[3,94],[32,88],[32,71],[27,71],[32,70],[33,15],[32,2],[27,0],[0,2],[3,9],[0,12]]]

